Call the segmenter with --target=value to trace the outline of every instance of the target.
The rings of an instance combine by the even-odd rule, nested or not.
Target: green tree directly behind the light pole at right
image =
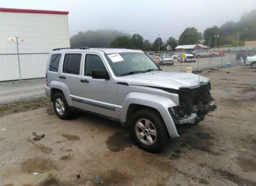
[[[215,37],[220,35],[220,28],[218,26],[213,26],[211,28],[206,28],[204,30],[204,45],[214,47],[215,46]],[[209,43],[209,41],[211,41]]]

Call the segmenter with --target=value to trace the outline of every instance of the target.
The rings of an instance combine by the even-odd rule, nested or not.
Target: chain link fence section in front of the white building
[[[48,55],[49,53],[0,54],[0,81],[45,77]]]

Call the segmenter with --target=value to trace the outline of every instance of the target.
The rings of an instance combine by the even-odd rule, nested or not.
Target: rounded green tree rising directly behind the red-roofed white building
[[[195,27],[186,28],[179,37],[179,44],[196,44],[199,39],[198,31]]]

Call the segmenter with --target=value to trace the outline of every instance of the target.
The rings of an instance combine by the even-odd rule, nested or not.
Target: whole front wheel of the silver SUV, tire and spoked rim
[[[151,109],[136,111],[131,119],[130,130],[138,146],[148,152],[159,152],[168,139],[162,117]]]

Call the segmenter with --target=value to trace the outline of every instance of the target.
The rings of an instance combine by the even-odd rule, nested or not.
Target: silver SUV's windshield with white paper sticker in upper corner
[[[158,66],[144,53],[121,52],[106,54],[116,76],[122,76],[129,72],[146,72],[146,70],[159,70]]]

